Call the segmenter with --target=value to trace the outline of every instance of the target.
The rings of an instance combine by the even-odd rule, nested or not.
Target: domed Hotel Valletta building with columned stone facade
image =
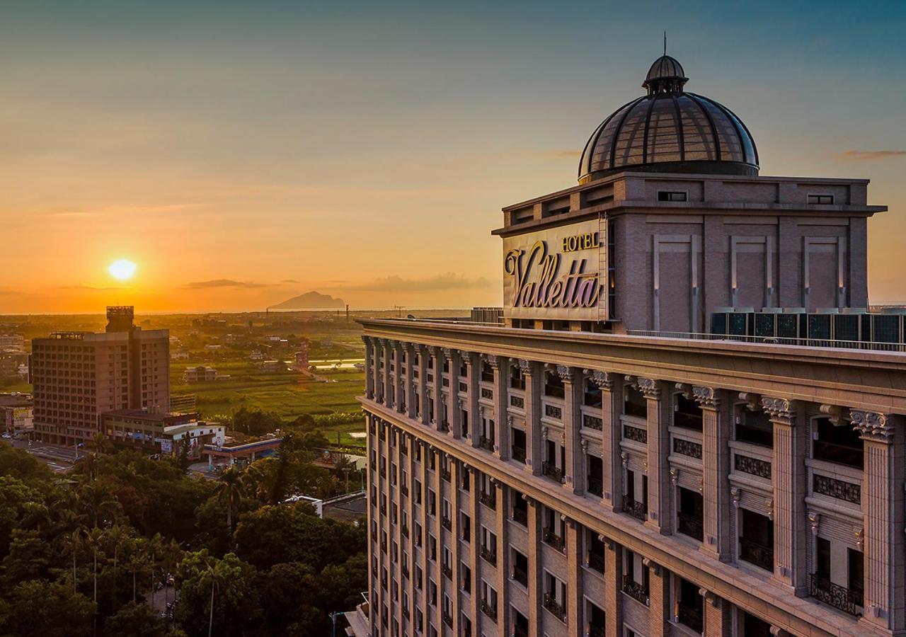
[[[504,208],[502,323],[366,320],[375,635],[906,632],[902,316],[861,179],[670,57]]]

